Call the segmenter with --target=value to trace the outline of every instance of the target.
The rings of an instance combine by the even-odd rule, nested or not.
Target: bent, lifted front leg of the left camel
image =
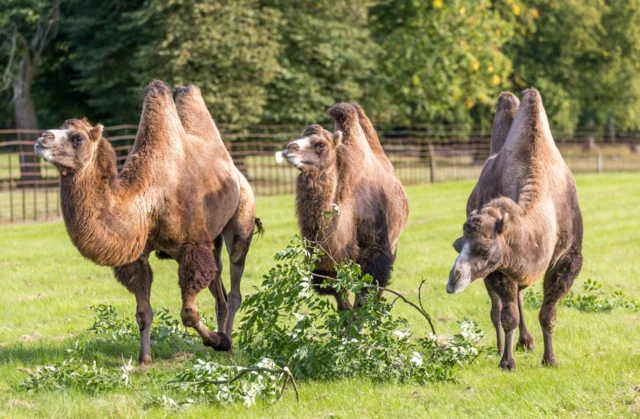
[[[224,333],[209,330],[200,321],[200,313],[195,304],[196,297],[203,289],[209,287],[216,278],[220,282],[212,246],[189,246],[183,250],[178,264],[178,276],[182,289],[182,310],[180,311],[182,324],[194,328],[205,346],[210,346],[216,351],[230,350],[231,340],[229,337]],[[214,284],[210,289],[213,289],[217,302],[224,301],[224,295],[219,292],[220,287]],[[226,306],[226,301],[224,304]]]

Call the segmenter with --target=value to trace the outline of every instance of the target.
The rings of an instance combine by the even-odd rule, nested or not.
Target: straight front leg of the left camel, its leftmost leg
[[[136,322],[140,329],[140,364],[151,363],[151,324],[153,310],[151,309],[151,283],[153,273],[149,266],[149,253],[146,250],[142,256],[131,263],[114,268],[118,282],[136,296]]]

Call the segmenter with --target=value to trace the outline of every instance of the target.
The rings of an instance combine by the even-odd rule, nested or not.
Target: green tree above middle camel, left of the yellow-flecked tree
[[[369,0],[262,3],[283,16],[280,69],[267,87],[267,122],[328,120],[327,109],[342,101],[361,101],[374,115],[384,108],[371,91],[382,51],[368,28]]]

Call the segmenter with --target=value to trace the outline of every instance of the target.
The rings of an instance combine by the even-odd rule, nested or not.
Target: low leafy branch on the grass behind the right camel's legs
[[[573,291],[562,300],[559,305],[573,307],[587,313],[610,312],[616,308],[624,308],[637,312],[640,310],[640,302],[627,297],[620,291],[608,294],[602,290],[602,284],[594,279],[587,279],[582,284],[584,294],[578,295]],[[540,291],[528,289],[524,294],[525,304],[532,307],[542,306],[544,296]]]

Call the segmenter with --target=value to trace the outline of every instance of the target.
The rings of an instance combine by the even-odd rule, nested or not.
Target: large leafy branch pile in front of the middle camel
[[[335,278],[322,286],[366,298],[358,309],[337,311],[312,290],[312,271],[323,255],[317,243],[295,237],[245,299],[236,343],[252,359],[269,357],[298,379],[364,376],[425,384],[452,378],[457,365],[478,356],[483,334],[475,323],[459,322],[454,336],[415,337],[408,320],[392,313],[395,301],[379,298],[372,278],[353,262],[336,263]],[[423,315],[424,309],[410,306]]]

